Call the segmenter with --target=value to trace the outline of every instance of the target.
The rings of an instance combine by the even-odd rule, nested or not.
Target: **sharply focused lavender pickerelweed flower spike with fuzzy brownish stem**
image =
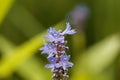
[[[53,80],[67,80],[68,68],[73,66],[73,63],[69,62],[70,55],[67,55],[65,52],[68,50],[65,35],[72,35],[76,32],[71,29],[69,23],[67,23],[66,26],[63,32],[61,30],[56,31],[54,28],[50,27],[50,29],[48,29],[48,35],[44,36],[49,42],[44,43],[44,47],[40,48],[42,54],[48,54],[47,59],[50,64],[47,64],[46,68],[51,68]]]

